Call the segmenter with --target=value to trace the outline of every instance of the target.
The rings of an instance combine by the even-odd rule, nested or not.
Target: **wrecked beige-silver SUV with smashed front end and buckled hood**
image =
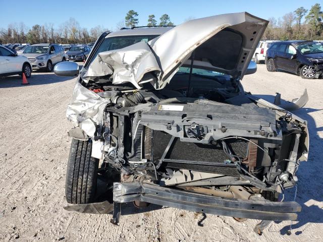
[[[103,33],[78,75],[67,117],[75,128],[66,176],[70,211],[113,212],[149,203],[202,213],[294,220],[301,207],[278,201],[307,159],[306,122],[240,80],[267,21],[248,13],[195,19],[174,28]],[[250,63],[250,64],[249,64]]]

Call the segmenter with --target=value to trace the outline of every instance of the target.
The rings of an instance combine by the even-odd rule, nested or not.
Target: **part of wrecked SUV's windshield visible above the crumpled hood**
[[[115,50],[127,47],[129,45],[138,43],[140,41],[148,42],[159,35],[131,35],[131,36],[116,36],[111,38],[105,38],[100,44],[98,49],[95,51],[91,62],[96,57],[96,55],[103,51]]]

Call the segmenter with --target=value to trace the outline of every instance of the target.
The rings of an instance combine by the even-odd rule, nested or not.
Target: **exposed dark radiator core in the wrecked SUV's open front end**
[[[145,128],[144,134],[143,156],[144,158],[152,159],[155,164],[158,164],[172,136],[149,128]],[[239,157],[248,156],[248,143],[248,141],[242,139],[226,140],[230,150]],[[224,152],[219,141],[212,141],[211,144],[200,144],[182,142],[179,138],[175,138],[165,156],[163,166],[239,176],[234,164],[225,163],[229,159],[230,157]]]

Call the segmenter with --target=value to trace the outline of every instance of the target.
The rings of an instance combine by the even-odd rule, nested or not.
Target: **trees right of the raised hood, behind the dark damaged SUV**
[[[282,18],[270,18],[262,36],[266,40],[322,40],[323,12],[319,4],[300,7]],[[304,20],[302,22],[302,20]]]

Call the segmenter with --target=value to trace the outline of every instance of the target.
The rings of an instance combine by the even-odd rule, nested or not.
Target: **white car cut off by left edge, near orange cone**
[[[29,59],[22,55],[17,55],[5,46],[0,45],[0,77],[22,75],[31,77],[32,65]]]

